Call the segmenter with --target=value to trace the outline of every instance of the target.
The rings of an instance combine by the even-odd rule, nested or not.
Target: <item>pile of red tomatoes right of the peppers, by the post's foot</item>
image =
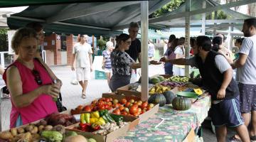
[[[114,109],[113,114],[139,116],[154,107],[154,104],[142,101],[137,102],[134,99],[130,99],[129,102],[127,99],[122,99],[120,103],[123,105]]]

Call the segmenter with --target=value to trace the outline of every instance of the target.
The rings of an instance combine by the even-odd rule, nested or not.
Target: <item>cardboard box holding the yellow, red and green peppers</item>
[[[117,129],[116,131],[112,131],[111,133],[107,133],[107,135],[102,136],[99,134],[92,134],[90,132],[80,131],[78,129],[74,129],[79,124],[74,124],[72,126],[66,127],[66,131],[76,131],[78,134],[85,136],[86,138],[94,138],[97,142],[112,142],[114,139],[117,139],[119,136],[125,136],[127,131],[130,129],[134,129],[135,126],[139,124],[139,119],[133,116],[124,116],[124,121],[131,121],[131,123],[126,126]]]

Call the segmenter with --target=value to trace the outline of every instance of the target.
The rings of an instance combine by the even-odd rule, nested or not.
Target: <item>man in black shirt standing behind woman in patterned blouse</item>
[[[139,23],[131,22],[129,24],[129,37],[132,40],[131,45],[129,46],[129,50],[125,50],[126,53],[136,62],[137,59],[141,62],[140,53],[141,53],[141,42],[137,38],[139,32]]]

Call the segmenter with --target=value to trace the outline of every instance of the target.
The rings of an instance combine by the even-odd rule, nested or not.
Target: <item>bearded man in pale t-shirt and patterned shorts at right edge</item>
[[[248,126],[251,120],[250,138],[256,141],[256,18],[244,21],[245,39],[239,50],[239,58],[231,66],[237,70],[240,90],[240,111]]]

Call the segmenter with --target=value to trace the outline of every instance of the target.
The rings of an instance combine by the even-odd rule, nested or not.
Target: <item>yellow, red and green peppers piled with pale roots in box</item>
[[[81,114],[78,129],[93,134],[106,135],[127,124],[128,122],[124,122],[122,116],[109,114],[108,110],[104,109]]]

